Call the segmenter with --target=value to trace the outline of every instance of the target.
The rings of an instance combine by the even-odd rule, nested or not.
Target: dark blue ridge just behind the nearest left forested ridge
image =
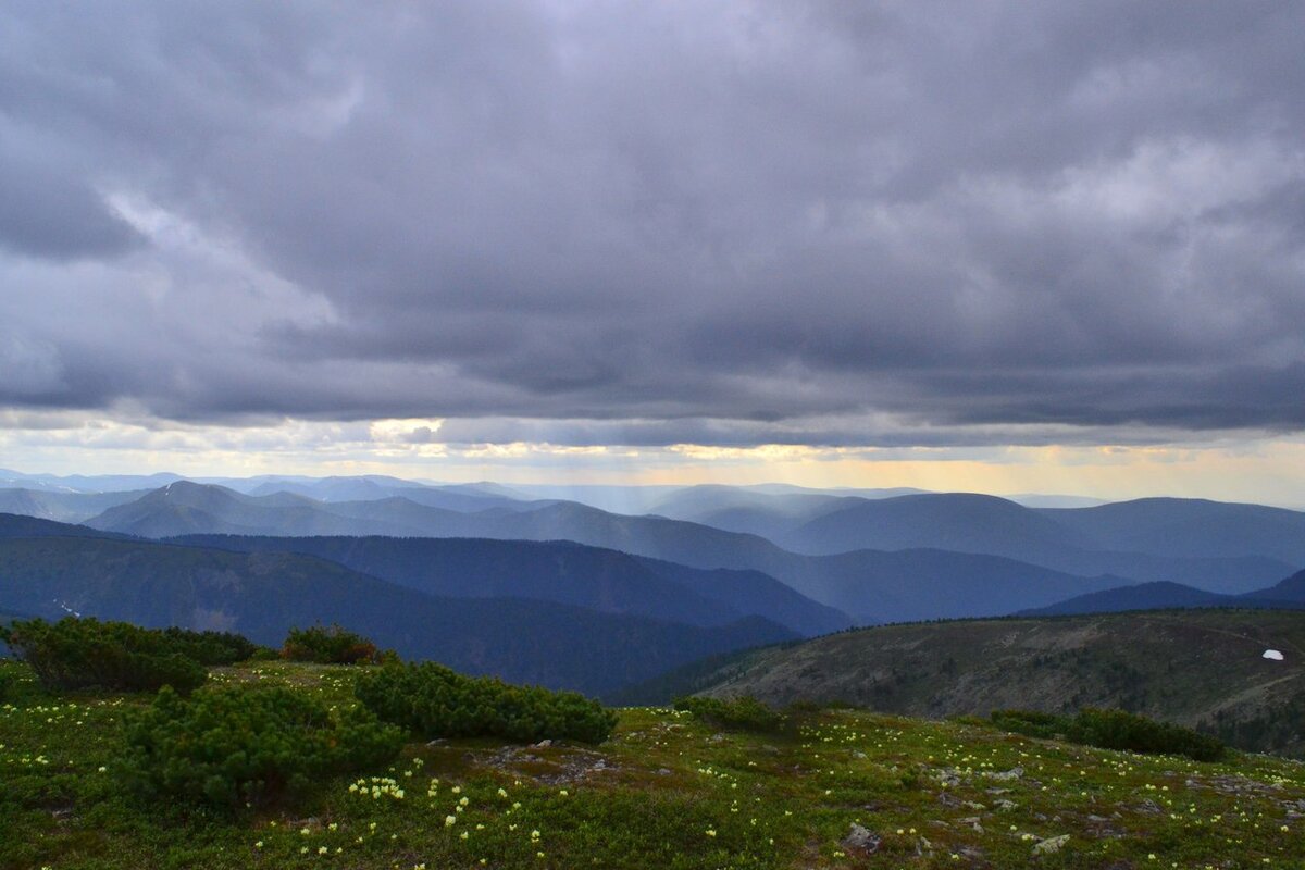
[[[570,541],[222,535],[174,540],[238,552],[305,553],[432,595],[542,599],[701,626],[760,616],[808,637],[852,625],[847,614],[760,571],[693,569]]]

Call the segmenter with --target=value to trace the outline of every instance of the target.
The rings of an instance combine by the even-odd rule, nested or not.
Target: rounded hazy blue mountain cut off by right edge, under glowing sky
[[[1201,498],[1139,498],[1041,517],[1103,549],[1177,557],[1265,556],[1305,566],[1305,513]]]

